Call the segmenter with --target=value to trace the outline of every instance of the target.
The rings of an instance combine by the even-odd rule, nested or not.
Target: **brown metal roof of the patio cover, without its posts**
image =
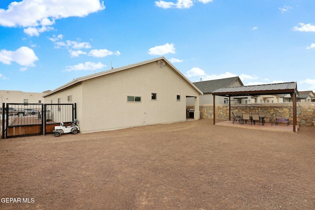
[[[243,87],[220,88],[212,92],[213,95],[240,96],[240,95],[269,95],[298,93],[296,82],[253,85]]]

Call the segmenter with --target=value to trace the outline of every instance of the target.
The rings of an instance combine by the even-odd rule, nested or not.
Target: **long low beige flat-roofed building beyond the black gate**
[[[43,95],[42,92],[0,90],[0,103],[24,103],[24,99],[28,99],[28,103],[44,103]]]

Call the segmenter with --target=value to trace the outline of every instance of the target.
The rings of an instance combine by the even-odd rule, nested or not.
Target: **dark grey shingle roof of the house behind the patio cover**
[[[218,79],[218,80],[194,82],[193,84],[199,90],[201,90],[204,94],[209,94],[209,93],[212,93],[214,90],[229,87],[233,82],[237,80],[241,83],[242,86],[244,86],[244,84],[242,83],[239,77],[230,77],[230,78],[224,78],[224,79]]]

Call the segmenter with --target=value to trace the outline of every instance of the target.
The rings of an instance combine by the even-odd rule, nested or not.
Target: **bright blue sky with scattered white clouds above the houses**
[[[315,91],[315,0],[0,1],[0,90],[164,56],[190,81]]]

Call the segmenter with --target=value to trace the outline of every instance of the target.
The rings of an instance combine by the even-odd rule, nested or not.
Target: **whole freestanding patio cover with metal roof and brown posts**
[[[212,92],[213,109],[216,111],[216,95],[229,97],[229,110],[231,110],[231,96],[246,96],[246,95],[275,95],[275,94],[290,94],[293,98],[293,131],[296,132],[296,96],[298,94],[296,82],[276,83],[265,85],[252,85],[242,87],[220,88]],[[216,123],[216,115],[214,114],[213,123]],[[229,114],[231,120],[231,114]]]

